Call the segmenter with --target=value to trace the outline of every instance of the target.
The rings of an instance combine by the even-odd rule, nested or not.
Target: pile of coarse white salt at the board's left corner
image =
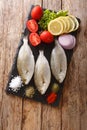
[[[21,85],[22,85],[21,77],[16,76],[11,80],[9,88],[11,88],[14,92],[17,92],[21,88]]]

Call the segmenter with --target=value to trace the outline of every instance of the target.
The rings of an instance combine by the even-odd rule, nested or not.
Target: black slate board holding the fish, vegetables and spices
[[[34,7],[34,5],[31,6],[31,9]],[[30,12],[31,12],[31,9],[28,13],[28,17],[27,17],[27,20],[28,19],[31,19],[31,16],[30,16]],[[45,9],[44,9],[45,10]],[[79,19],[78,19],[79,20]],[[26,22],[25,22],[26,23]],[[51,82],[50,82],[50,85],[46,91],[46,93],[44,95],[41,95],[38,90],[36,89],[36,86],[34,84],[34,76],[32,77],[31,81],[29,82],[28,85],[22,85],[21,86],[21,89],[18,91],[18,92],[13,92],[12,89],[9,88],[9,83],[11,82],[12,78],[14,78],[15,76],[18,76],[18,71],[17,71],[17,56],[18,56],[18,53],[19,53],[19,50],[21,48],[21,46],[23,45],[23,37],[24,36],[27,36],[29,35],[29,31],[27,30],[26,28],[26,24],[24,25],[24,30],[23,30],[23,33],[22,33],[22,36],[21,36],[21,39],[20,39],[20,42],[19,42],[19,46],[17,48],[17,51],[16,51],[16,55],[15,55],[15,58],[14,58],[14,61],[13,61],[13,66],[12,66],[12,69],[11,69],[11,72],[9,74],[9,80],[8,80],[8,83],[7,83],[7,86],[6,86],[6,93],[7,94],[13,94],[13,95],[16,95],[16,96],[19,96],[19,97],[22,97],[22,98],[28,98],[25,96],[25,89],[29,86],[33,86],[35,88],[35,95],[33,98],[29,98],[30,100],[35,100],[35,101],[39,101],[39,102],[42,102],[44,104],[48,104],[47,101],[46,101],[46,98],[47,98],[47,95],[49,95],[49,93],[51,92],[51,87],[52,87],[52,84],[53,83],[58,83],[56,81],[56,79],[54,78],[54,76],[52,75],[51,73]],[[72,33],[72,35],[76,36],[77,35],[77,32],[74,32]],[[29,41],[28,41],[29,42]],[[52,49],[54,48],[54,43],[52,44],[49,44],[49,45],[46,45],[44,43],[41,43],[39,46],[37,47],[33,47],[30,42],[29,42],[29,46],[34,54],[34,58],[35,58],[35,62],[37,60],[37,57],[39,55],[39,50],[44,50],[44,55],[45,57],[47,58],[49,64],[50,64],[50,56],[51,56],[51,51]],[[71,57],[73,55],[73,49],[72,50],[64,50],[65,53],[66,53],[66,56],[67,56],[67,61],[68,61],[68,66],[69,66],[69,63],[71,61]],[[59,83],[58,83],[59,84]],[[52,106],[58,106],[59,104],[59,101],[60,101],[60,97],[61,97],[61,94],[62,94],[62,89],[64,87],[64,82],[59,84],[59,91],[57,93],[58,97],[57,97],[57,100],[53,103],[53,104],[50,104]]]

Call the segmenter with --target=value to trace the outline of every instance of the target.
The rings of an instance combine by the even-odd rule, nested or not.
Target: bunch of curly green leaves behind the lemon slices
[[[63,10],[60,10],[58,11],[57,13],[54,12],[54,11],[50,11],[50,10],[45,10],[43,12],[43,16],[41,17],[41,19],[39,20],[38,24],[40,25],[40,28],[43,29],[43,30],[47,30],[47,26],[48,26],[48,23],[59,17],[59,16],[66,16],[68,15],[68,11],[63,11]]]

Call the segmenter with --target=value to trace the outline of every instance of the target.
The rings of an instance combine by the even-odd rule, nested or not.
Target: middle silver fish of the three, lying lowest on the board
[[[35,65],[34,82],[41,95],[45,94],[51,81],[51,71],[49,63],[44,56],[43,50],[39,51],[39,56]]]

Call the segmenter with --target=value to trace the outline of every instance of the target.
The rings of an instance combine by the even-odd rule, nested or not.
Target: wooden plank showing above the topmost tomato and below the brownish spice
[[[29,12],[31,5],[41,5],[41,0],[24,0],[23,21]],[[35,101],[23,101],[22,130],[41,130],[41,103]]]

